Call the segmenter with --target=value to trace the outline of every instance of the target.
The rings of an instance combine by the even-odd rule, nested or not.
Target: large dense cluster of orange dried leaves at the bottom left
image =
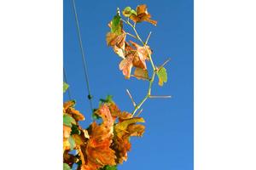
[[[64,169],[73,164],[79,170],[115,169],[116,165],[127,160],[131,150],[130,137],[142,136],[145,127],[142,117],[132,117],[130,113],[120,111],[111,98],[105,99],[94,111],[102,122],[92,122],[84,129],[79,121],[84,116],[74,109],[75,102],[67,101],[63,105],[63,161]],[[71,153],[74,150],[75,153]]]

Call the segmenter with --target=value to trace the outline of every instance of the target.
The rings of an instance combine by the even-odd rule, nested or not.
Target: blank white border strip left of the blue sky
[[[62,169],[62,8],[0,2],[0,169]]]

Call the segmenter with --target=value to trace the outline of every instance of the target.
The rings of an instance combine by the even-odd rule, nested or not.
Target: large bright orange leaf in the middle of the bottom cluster
[[[102,117],[102,124],[91,123],[88,129],[90,139],[86,145],[79,146],[79,156],[82,157],[81,169],[84,170],[96,170],[116,164],[114,150],[110,148],[113,138],[113,117],[108,105],[101,105],[95,114]]]

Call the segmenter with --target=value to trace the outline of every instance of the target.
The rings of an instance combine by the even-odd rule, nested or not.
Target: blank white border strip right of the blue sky
[[[256,169],[255,7],[195,0],[195,170]]]

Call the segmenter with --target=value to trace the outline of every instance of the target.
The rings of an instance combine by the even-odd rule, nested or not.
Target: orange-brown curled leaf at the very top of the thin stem
[[[130,19],[133,20],[135,23],[147,21],[147,22],[153,24],[154,26],[156,26],[157,21],[150,19],[151,15],[148,13],[148,9],[147,9],[147,5],[146,4],[138,5],[136,12],[137,12],[137,14],[129,13],[129,14],[131,14],[130,15]]]

